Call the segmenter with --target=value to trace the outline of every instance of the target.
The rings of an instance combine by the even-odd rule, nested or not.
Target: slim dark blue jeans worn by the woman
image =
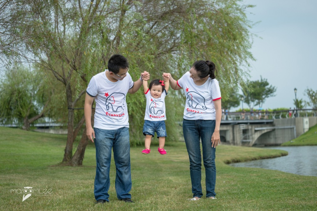
[[[193,197],[202,197],[201,187],[201,150],[206,172],[206,197],[216,196],[216,148],[211,147],[211,136],[216,120],[183,120],[183,133],[190,162],[191,190]]]

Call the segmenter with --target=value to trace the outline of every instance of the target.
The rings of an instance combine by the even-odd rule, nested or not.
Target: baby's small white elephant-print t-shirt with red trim
[[[150,121],[163,121],[166,120],[166,112],[165,112],[165,97],[166,90],[162,92],[160,98],[153,98],[150,94],[150,90],[146,91],[146,109],[144,120]]]

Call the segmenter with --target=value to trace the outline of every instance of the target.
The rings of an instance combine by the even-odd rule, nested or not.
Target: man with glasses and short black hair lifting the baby
[[[96,147],[96,177],[94,195],[96,203],[109,202],[109,171],[113,148],[116,165],[115,188],[119,200],[133,202],[129,193],[132,187],[130,165],[129,117],[126,94],[139,90],[142,80],[149,80],[146,71],[133,82],[127,59],[119,54],[111,56],[108,70],[90,80],[85,98],[85,120],[88,138]],[[96,101],[94,129],[91,125],[91,107]],[[93,140],[94,137],[94,140]]]

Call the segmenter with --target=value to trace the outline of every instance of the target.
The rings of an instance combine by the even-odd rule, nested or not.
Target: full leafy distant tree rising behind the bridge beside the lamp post
[[[256,105],[262,107],[267,98],[275,96],[276,87],[269,85],[267,79],[263,79],[261,76],[261,80],[247,81],[242,86],[242,92],[245,96],[244,102],[250,108]]]

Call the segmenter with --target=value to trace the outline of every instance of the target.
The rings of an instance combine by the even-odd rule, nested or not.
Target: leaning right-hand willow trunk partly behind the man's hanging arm
[[[94,114],[95,114],[95,109],[92,109],[91,125],[94,125]],[[77,150],[74,153],[74,156],[72,157],[72,159],[70,160],[69,165],[72,165],[72,166],[81,166],[82,165],[82,161],[84,159],[84,154],[85,154],[85,150],[86,150],[88,143],[89,143],[89,139],[86,135],[86,127],[85,127],[84,131],[82,132],[81,140],[79,142]]]

